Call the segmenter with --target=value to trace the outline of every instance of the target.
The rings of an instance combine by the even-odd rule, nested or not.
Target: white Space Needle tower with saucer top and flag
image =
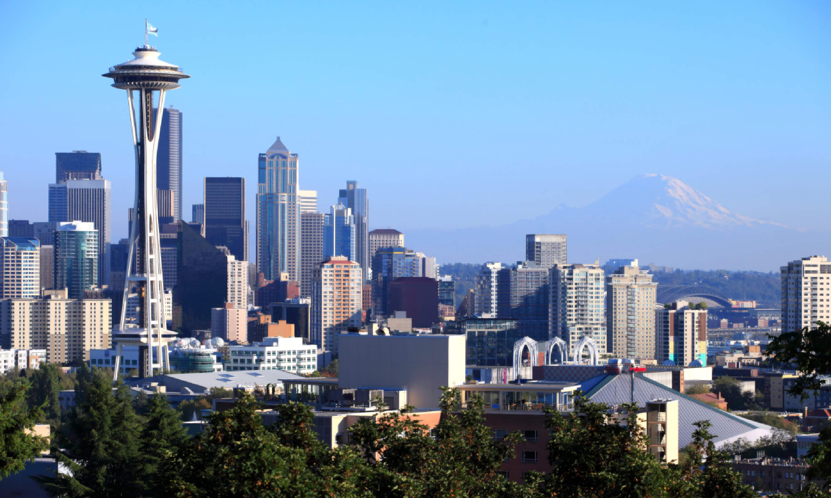
[[[118,344],[113,380],[118,377],[121,349],[125,345],[139,346],[138,370],[141,377],[153,376],[155,369],[170,369],[167,348],[176,336],[175,332],[167,330],[165,322],[155,172],[165,93],[179,88],[179,80],[189,76],[179,66],[161,61],[159,51],[147,43],[147,34],[156,35],[157,32],[145,19],[145,45],[135,49],[135,58],[113,66],[101,75],[112,78],[112,86],[127,90],[135,150],[135,202],[130,227],[130,252],[120,327],[112,334],[113,341]],[[129,318],[128,302],[132,307]]]

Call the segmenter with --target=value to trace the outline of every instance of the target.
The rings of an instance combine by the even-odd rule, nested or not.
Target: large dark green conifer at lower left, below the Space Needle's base
[[[57,461],[70,473],[39,476],[57,496],[138,496],[144,466],[139,420],[123,383],[112,387],[105,372],[81,364],[76,406],[53,444]],[[63,449],[58,449],[63,448]]]

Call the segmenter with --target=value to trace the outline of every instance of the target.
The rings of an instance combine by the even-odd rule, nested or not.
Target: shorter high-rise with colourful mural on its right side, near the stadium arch
[[[691,310],[686,303],[655,310],[655,359],[658,364],[706,365],[707,311]]]

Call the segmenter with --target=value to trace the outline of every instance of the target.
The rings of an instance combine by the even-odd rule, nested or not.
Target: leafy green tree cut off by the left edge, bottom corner
[[[28,459],[39,457],[48,446],[44,438],[30,432],[43,411],[27,408],[28,388],[27,381],[20,379],[0,395],[0,479],[22,471]]]

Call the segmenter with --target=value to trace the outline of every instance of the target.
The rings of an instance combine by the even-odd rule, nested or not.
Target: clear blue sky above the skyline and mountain
[[[2,2],[10,217],[45,220],[54,153],[86,149],[125,237],[125,95],[101,74],[147,17],[192,76],[168,95],[188,218],[202,177],[243,175],[253,222],[257,154],[279,134],[321,206],[369,188],[372,227],[513,222],[663,173],[831,228],[831,3],[680,3]]]

